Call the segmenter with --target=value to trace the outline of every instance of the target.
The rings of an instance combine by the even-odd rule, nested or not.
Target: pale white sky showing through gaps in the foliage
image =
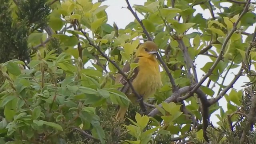
[[[97,2],[97,0],[93,0],[93,2]],[[144,5],[144,2],[146,2],[146,0],[129,0],[129,2],[130,2],[131,6],[133,6],[134,4]],[[102,2],[102,5],[109,6],[106,9],[106,12],[108,14],[108,22],[107,22],[108,24],[112,25],[115,22],[117,24],[118,28],[125,28],[125,26],[127,24],[134,21],[134,16],[126,8],[127,4],[126,4],[125,0],[106,0],[105,2]],[[223,2],[221,5],[229,7],[229,6],[231,6],[231,3]],[[196,12],[194,12],[194,16],[197,13],[201,13],[203,15],[203,17],[206,18],[206,19],[210,17],[209,10],[203,10],[200,6],[195,6],[194,8],[196,9]],[[220,11],[215,10],[214,13],[216,13],[216,12],[220,12]],[[138,14],[138,16],[139,16],[140,19],[143,19],[142,15]],[[194,31],[189,30],[188,34],[191,33],[191,32],[194,32]],[[248,33],[254,32],[254,26],[249,27],[248,30],[246,30],[246,32],[248,32]],[[243,35],[243,40],[245,40],[245,38],[246,37]],[[208,56],[198,56],[196,58],[195,64],[196,64],[196,71],[197,71],[198,80],[200,80],[200,78],[202,78],[202,76],[205,74],[202,70],[200,70],[200,68],[202,68],[206,64],[206,62],[210,62],[210,61],[211,60],[210,60],[210,58],[208,58]],[[229,82],[234,78],[234,74],[236,74],[238,72],[239,68],[240,67],[230,70],[230,72],[228,74],[228,78],[226,78],[226,80],[224,82],[224,85],[229,84]],[[220,80],[222,80],[222,79],[220,78]],[[248,81],[249,80],[246,76],[241,76],[238,79],[238,81],[234,84],[233,88],[236,89],[236,90],[241,90],[242,89],[241,86],[244,85],[244,82],[248,82]],[[203,85],[205,86],[207,82],[208,82],[208,79],[205,80]],[[215,93],[218,92],[218,89],[219,89],[218,86],[212,88],[212,90],[214,90]],[[228,93],[230,92],[230,90],[228,91]],[[227,104],[226,100],[223,97],[219,101],[219,105],[222,106],[224,111],[227,110],[226,104]],[[210,117],[210,121],[214,125],[216,125],[216,122],[218,122],[218,118],[215,116],[215,114],[219,114],[219,112],[220,112],[219,110],[214,112],[214,114],[212,114],[212,116]]]

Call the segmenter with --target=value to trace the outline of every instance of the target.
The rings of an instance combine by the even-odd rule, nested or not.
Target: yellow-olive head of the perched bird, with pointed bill
[[[157,45],[152,41],[146,41],[139,46],[136,51],[136,57],[145,57],[150,59],[156,58]]]

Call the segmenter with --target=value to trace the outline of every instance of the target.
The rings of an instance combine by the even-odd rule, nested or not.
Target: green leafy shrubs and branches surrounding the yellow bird
[[[0,0],[0,143],[255,144],[256,32],[245,32],[256,23],[255,2],[125,1],[134,20],[121,29],[106,23],[101,2]],[[194,6],[211,18],[194,14]],[[115,120],[117,104],[129,104],[115,75],[146,40],[159,47],[164,86]],[[202,77],[195,64],[201,55],[211,60]],[[240,76],[250,82],[233,89]]]

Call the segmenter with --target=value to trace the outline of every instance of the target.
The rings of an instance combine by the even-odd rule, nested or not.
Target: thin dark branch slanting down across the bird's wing
[[[91,46],[93,46],[94,48],[96,48],[96,50],[98,50],[98,52],[100,52],[100,54],[106,58],[111,64],[114,65],[114,67],[116,67],[116,69],[118,70],[118,73],[122,74],[122,76],[127,80],[132,92],[135,94],[135,96],[138,98],[139,102],[140,102],[140,106],[142,108],[143,112],[146,112],[146,107],[144,105],[143,102],[143,97],[140,96],[140,94],[138,94],[138,92],[136,92],[136,90],[134,89],[134,87],[132,86],[132,82],[130,81],[130,79],[128,79],[128,77],[126,76],[126,74],[124,74],[124,72],[119,68],[119,66],[116,64],[116,62],[114,62],[113,60],[111,60],[104,52],[102,52],[102,50],[100,50],[100,47],[95,45],[90,38],[86,35],[86,32],[82,31],[82,29],[80,29],[80,31],[83,33],[83,35],[85,36],[85,38],[88,40],[89,44]]]

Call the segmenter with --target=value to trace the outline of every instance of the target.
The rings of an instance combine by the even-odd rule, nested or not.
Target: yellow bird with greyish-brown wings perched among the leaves
[[[143,99],[147,99],[152,96],[157,88],[162,86],[159,64],[156,59],[157,46],[152,41],[144,42],[139,46],[135,53],[135,63],[138,63],[138,67],[134,68],[134,75],[130,78],[132,85],[136,92],[143,96]],[[126,63],[123,72],[130,71],[130,64]],[[116,83],[121,83],[124,86],[118,90],[124,92],[132,103],[137,101],[137,97],[132,93],[127,80],[121,75],[117,74]],[[128,107],[119,107],[116,114],[116,118],[124,119],[124,115]]]

